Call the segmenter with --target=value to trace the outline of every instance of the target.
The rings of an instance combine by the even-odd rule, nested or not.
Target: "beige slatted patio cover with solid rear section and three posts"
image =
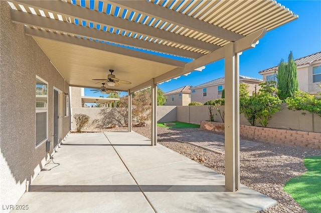
[[[108,69],[132,82],[117,90],[131,94],[151,86],[152,145],[157,143],[157,83],[224,58],[225,187],[239,188],[239,54],[297,15],[274,0],[9,3],[12,20],[25,24],[25,33],[33,36],[71,86],[99,88],[91,79],[105,78]],[[131,131],[131,95],[128,99]]]

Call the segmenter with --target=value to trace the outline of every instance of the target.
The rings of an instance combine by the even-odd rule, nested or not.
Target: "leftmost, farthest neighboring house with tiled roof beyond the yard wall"
[[[178,89],[164,93],[166,97],[165,105],[170,106],[184,106],[191,102],[191,90],[190,86],[183,86]]]

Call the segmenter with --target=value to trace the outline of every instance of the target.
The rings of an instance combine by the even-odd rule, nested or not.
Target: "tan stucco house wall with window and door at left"
[[[9,206],[69,132],[71,112],[69,84],[24,26],[11,20],[8,2],[0,3],[0,203]]]

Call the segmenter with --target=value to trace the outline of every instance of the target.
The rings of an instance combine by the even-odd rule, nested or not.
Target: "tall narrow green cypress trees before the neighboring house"
[[[298,90],[296,64],[293,60],[292,51],[290,51],[287,63],[281,59],[278,65],[277,88],[278,96],[282,100],[292,97]]]

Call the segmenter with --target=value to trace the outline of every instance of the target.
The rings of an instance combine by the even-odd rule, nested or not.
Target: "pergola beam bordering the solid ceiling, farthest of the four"
[[[178,66],[178,67],[184,67],[185,62],[180,61],[180,60],[175,60],[171,58],[166,58],[162,56],[157,56],[157,55],[152,55],[149,53],[141,52],[141,51],[136,51],[120,46],[115,46],[112,44],[108,43],[101,43],[97,42],[94,40],[88,40],[80,37],[74,37],[71,35],[67,34],[60,34],[60,33],[55,33],[53,31],[46,31],[46,30],[39,30],[37,28],[31,28],[29,26],[25,26],[25,33],[27,35],[31,36],[36,36],[36,37],[42,37],[46,39],[51,39],[51,40],[57,40],[61,42],[66,42],[70,44],[75,44],[79,46],[84,46],[88,48],[94,48],[94,49],[99,49],[102,51],[107,51],[107,52],[113,52],[121,55],[127,55],[130,57],[135,57],[135,58],[140,58],[140,59],[145,59],[149,61],[154,61],[154,62],[159,62],[159,63],[164,63],[168,65],[173,65],[173,66]]]

